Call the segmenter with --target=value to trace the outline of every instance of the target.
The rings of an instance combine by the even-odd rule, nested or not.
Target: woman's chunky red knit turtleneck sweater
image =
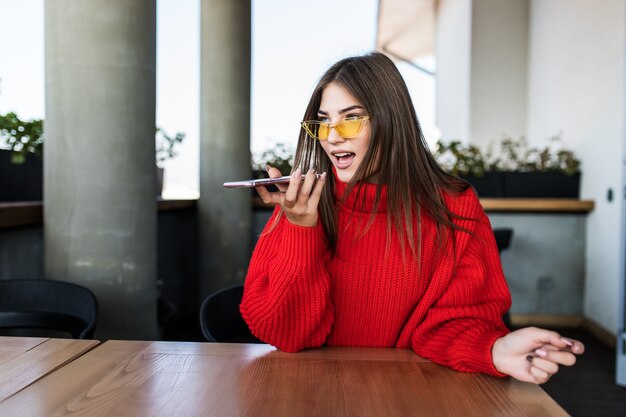
[[[335,184],[342,195],[346,184],[337,179]],[[322,345],[411,348],[453,369],[501,376],[491,347],[508,332],[502,315],[511,298],[476,194],[470,189],[444,196],[453,213],[476,219],[455,220],[473,232],[456,233],[456,251],[448,241],[437,253],[435,223],[423,216],[417,262],[408,244],[403,259],[393,230],[387,250],[385,190],[374,223],[363,234],[376,186],[363,188],[365,205],[363,193],[355,204],[355,188],[338,208],[334,257],[321,222],[301,227],[282,215],[272,229],[276,208],[245,282],[241,313],[252,333],[287,352]]]

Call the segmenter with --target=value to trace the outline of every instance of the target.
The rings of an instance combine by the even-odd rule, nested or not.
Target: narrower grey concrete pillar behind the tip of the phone
[[[250,0],[202,0],[200,297],[243,282],[250,258]]]

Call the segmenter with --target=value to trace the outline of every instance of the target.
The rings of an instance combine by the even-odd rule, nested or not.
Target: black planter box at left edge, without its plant
[[[0,202],[43,200],[43,161],[28,155],[23,164],[11,162],[11,152],[0,150]]]

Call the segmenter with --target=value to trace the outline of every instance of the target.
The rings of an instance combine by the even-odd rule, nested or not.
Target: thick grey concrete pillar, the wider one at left
[[[156,1],[47,0],[45,25],[46,278],[96,293],[96,338],[156,339]]]

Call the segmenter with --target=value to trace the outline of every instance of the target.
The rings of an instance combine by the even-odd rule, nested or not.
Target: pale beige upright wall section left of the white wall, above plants
[[[526,133],[527,0],[473,0],[468,140],[486,148]]]

